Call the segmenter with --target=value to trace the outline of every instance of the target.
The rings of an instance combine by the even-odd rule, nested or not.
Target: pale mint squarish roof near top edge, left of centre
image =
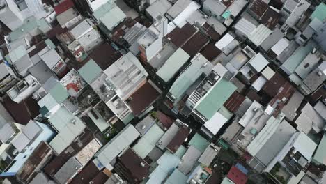
[[[123,11],[118,8],[118,6],[115,6],[105,15],[100,17],[100,22],[102,22],[104,26],[109,29],[109,31],[112,31],[112,29],[114,29],[114,27],[117,26],[119,22],[121,22],[125,17],[125,13],[123,13]]]

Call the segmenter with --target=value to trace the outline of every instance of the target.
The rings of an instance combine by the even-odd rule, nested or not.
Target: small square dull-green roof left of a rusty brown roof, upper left
[[[100,75],[102,69],[93,59],[91,59],[83,67],[81,67],[78,72],[88,84],[91,84],[91,82],[93,82],[93,80]]]

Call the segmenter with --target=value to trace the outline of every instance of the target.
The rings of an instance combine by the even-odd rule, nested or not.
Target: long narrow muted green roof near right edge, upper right
[[[316,47],[316,43],[313,40],[309,40],[306,46],[301,46],[295,50],[295,52],[283,63],[281,68],[286,69],[288,72],[293,73],[295,68],[306,58],[306,56]],[[287,72],[285,71],[285,72]],[[288,75],[290,75],[288,73]]]

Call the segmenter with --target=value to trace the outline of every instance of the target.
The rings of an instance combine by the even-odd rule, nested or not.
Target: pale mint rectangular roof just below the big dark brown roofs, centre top
[[[156,72],[156,74],[161,77],[165,82],[173,77],[173,75],[178,72],[178,70],[188,61],[190,58],[183,49],[179,48],[169,57],[169,59],[164,63],[162,68]]]

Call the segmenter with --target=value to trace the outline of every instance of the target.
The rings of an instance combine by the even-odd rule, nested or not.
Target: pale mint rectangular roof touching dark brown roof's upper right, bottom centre
[[[148,153],[152,151],[152,149],[155,147],[157,141],[160,140],[160,138],[164,135],[164,131],[157,125],[154,124],[148,132],[146,132],[141,139],[137,142],[136,145],[132,147],[135,153],[139,155],[141,158],[146,158]]]

